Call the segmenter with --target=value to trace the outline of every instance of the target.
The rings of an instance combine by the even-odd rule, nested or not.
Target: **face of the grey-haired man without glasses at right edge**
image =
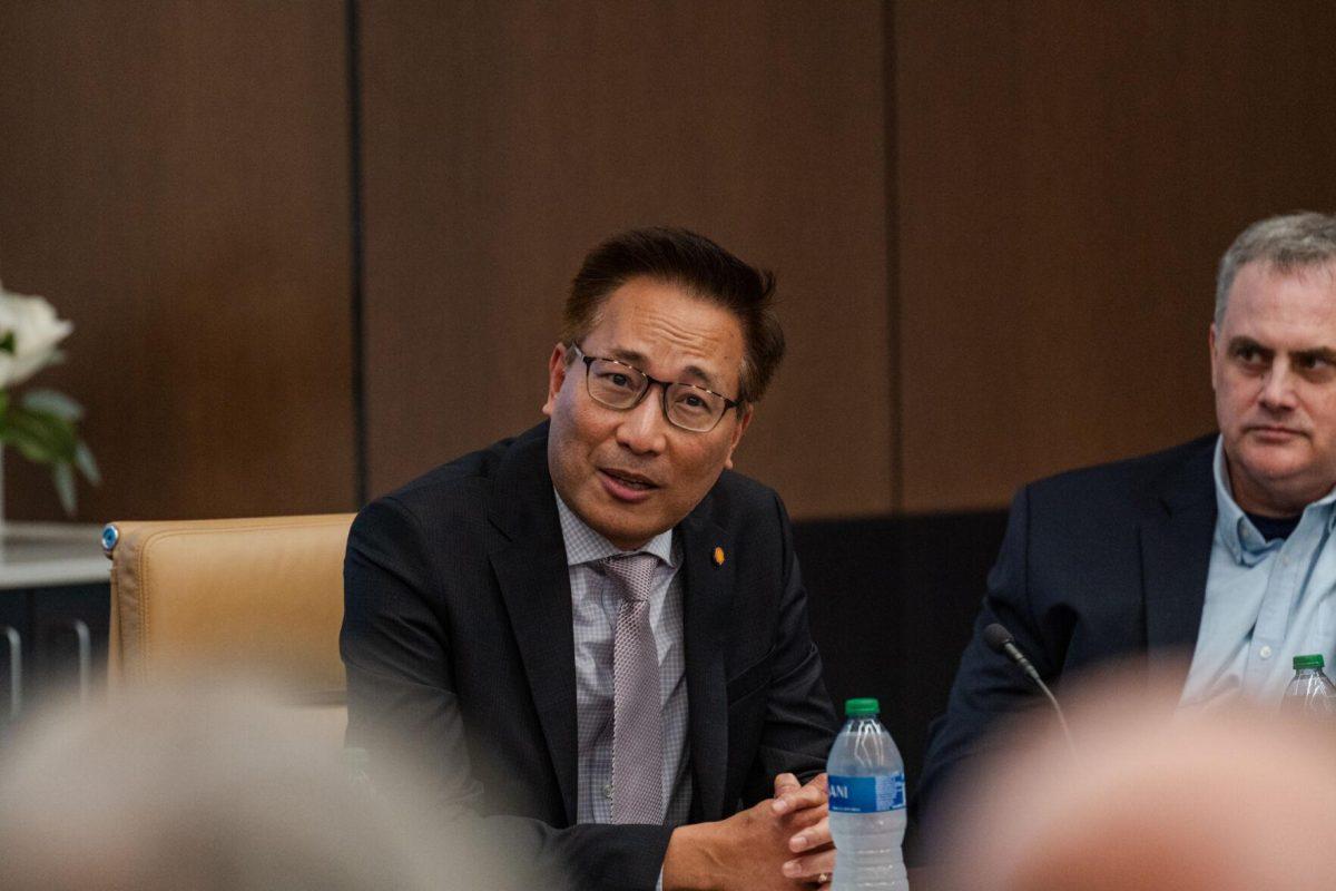
[[[1238,270],[1210,382],[1244,510],[1295,516],[1336,485],[1336,264]]]

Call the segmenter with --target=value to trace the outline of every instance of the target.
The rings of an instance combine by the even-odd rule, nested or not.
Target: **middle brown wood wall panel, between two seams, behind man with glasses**
[[[779,275],[739,466],[798,514],[890,509],[880,4],[365,11],[373,493],[540,421],[581,256],[664,223]]]

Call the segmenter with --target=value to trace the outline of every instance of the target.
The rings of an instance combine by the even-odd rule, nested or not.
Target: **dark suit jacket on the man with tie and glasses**
[[[440,803],[466,803],[510,859],[581,888],[652,888],[671,828],[576,824],[570,584],[548,425],[365,508],[339,639],[350,744],[399,735]],[[679,526],[692,822],[823,768],[836,729],[788,517],[735,473]],[[724,561],[716,565],[715,549]]]

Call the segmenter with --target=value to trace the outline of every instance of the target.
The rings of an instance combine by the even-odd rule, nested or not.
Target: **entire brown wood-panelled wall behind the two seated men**
[[[536,422],[651,223],[779,274],[739,465],[796,517],[993,508],[1212,426],[1220,251],[1336,208],[1333,45],[1316,0],[9,3],[0,278],[77,326],[83,520],[350,509],[359,434],[377,494]]]

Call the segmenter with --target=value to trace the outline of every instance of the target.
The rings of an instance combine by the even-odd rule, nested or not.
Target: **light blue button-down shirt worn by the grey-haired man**
[[[1336,656],[1336,489],[1304,509],[1284,540],[1265,541],[1234,504],[1216,441],[1216,534],[1197,648],[1181,708],[1246,697],[1279,704],[1292,659]]]

